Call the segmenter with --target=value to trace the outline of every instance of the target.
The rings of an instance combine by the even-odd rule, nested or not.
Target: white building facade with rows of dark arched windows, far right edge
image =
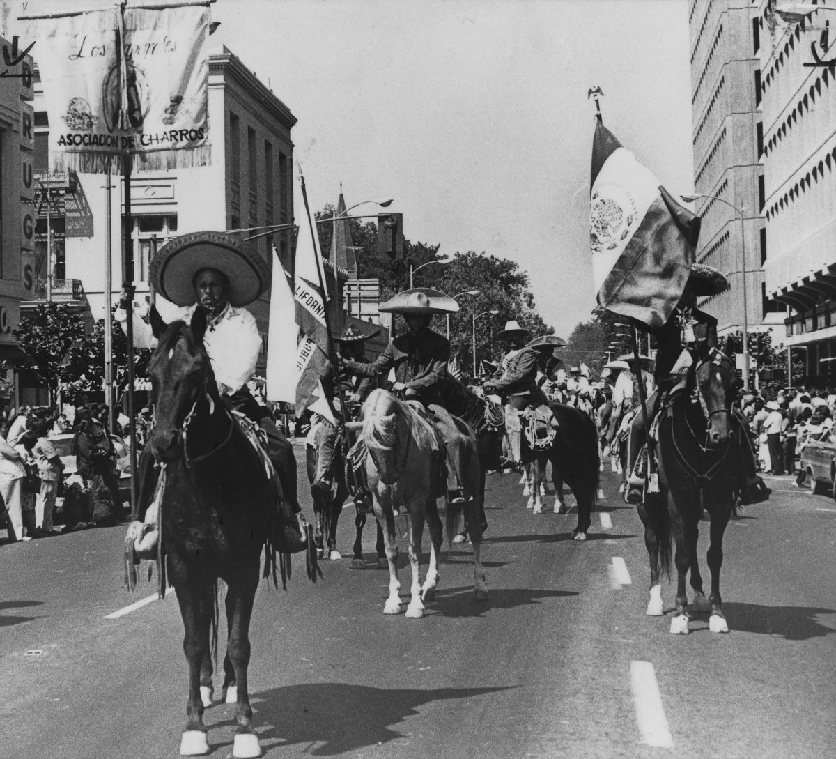
[[[813,67],[836,58],[823,34],[836,11],[814,9],[785,23],[760,0],[753,23],[762,29],[763,216],[767,228],[766,291],[786,309],[782,343],[795,377],[836,386],[836,75]],[[818,3],[810,3],[816,5]],[[823,47],[826,45],[826,47]],[[800,375],[799,375],[800,374]]]

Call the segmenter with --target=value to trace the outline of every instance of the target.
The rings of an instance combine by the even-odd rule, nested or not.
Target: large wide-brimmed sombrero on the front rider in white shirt
[[[193,280],[201,269],[213,268],[229,279],[229,303],[246,306],[268,287],[267,263],[237,235],[191,232],[175,237],[151,262],[150,276],[157,292],[178,306],[197,302]]]

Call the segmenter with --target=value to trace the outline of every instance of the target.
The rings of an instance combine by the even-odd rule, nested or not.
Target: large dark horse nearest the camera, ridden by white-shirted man
[[[161,551],[176,589],[189,665],[189,697],[181,754],[209,751],[204,706],[212,703],[212,656],[217,644],[218,580],[227,585],[226,700],[237,703],[233,756],[258,756],[247,691],[249,626],[261,554],[274,563],[272,524],[277,492],[263,460],[218,395],[203,347],[206,318],[172,323],[148,372],[156,425],[150,446],[163,465]],[[267,546],[267,548],[265,548]],[[165,564],[164,564],[165,566]],[[275,577],[275,573],[273,573]]]

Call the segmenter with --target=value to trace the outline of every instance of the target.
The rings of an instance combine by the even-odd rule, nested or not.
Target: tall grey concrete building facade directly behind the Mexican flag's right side
[[[720,334],[744,323],[752,334],[783,318],[783,307],[766,297],[762,271],[761,28],[752,23],[751,0],[692,0],[689,25],[694,185],[706,196],[696,201],[696,260],[731,285],[701,308],[716,316]]]

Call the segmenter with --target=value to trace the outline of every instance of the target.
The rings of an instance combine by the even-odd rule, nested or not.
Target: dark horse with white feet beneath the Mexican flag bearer
[[[732,362],[719,350],[700,359],[686,382],[675,389],[659,411],[659,489],[645,495],[639,516],[645,525],[650,556],[650,602],[647,614],[663,613],[660,570],[670,575],[671,534],[677,572],[676,614],[670,632],[688,632],[686,575],[691,570],[694,608],[710,611],[709,629],[728,632],[720,596],[722,542],[734,512],[737,467],[740,457],[730,456],[735,373]],[[670,498],[669,498],[670,496]],[[706,600],[696,554],[703,511],[711,517],[711,543],[707,553],[711,594]]]

